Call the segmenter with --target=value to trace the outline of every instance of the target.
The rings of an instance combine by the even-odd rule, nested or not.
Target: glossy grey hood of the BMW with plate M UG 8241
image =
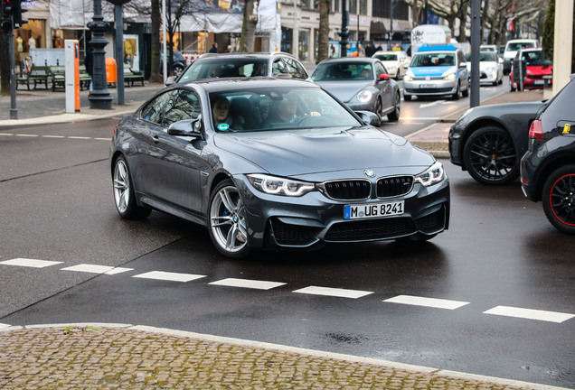
[[[405,138],[370,126],[217,134],[214,144],[269,173],[291,177],[393,166],[423,171],[434,162]]]

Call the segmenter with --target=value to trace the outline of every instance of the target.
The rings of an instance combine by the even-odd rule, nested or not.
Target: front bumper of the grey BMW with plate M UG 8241
[[[448,179],[393,198],[331,200],[319,191],[299,198],[255,190],[245,176],[234,177],[247,210],[250,246],[309,247],[318,243],[355,243],[410,236],[434,236],[448,228]],[[374,186],[375,179],[372,184]],[[344,206],[404,201],[404,213],[383,218],[344,219]]]

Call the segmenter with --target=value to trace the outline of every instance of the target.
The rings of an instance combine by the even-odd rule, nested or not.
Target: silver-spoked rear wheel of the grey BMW
[[[118,157],[114,163],[112,179],[114,181],[114,204],[122,218],[137,219],[146,218],[150,215],[152,209],[137,205],[132,177],[127,168],[126,159],[122,156]]]

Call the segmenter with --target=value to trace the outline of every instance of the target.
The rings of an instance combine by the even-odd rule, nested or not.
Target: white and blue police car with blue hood
[[[403,98],[469,96],[469,72],[463,52],[455,46],[422,46],[411,58],[403,78]]]

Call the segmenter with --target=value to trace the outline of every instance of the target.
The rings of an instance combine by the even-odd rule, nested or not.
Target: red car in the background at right
[[[509,73],[511,91],[519,87],[519,60],[523,61],[523,89],[536,89],[545,86],[545,80],[549,85],[553,84],[553,62],[549,60],[542,48],[529,48],[517,51]],[[526,66],[525,66],[526,65]]]

